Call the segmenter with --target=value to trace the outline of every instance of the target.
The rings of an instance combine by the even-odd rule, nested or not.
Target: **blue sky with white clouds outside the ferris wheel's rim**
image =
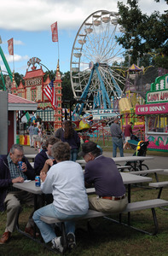
[[[123,1],[126,3],[126,1]],[[140,0],[140,9],[148,15],[167,9],[164,0]],[[50,25],[58,22],[61,71],[70,70],[72,43],[84,20],[97,10],[117,11],[115,0],[1,0],[1,47],[9,66],[15,72],[26,73],[27,61],[39,57],[49,69],[55,70],[57,43],[51,41]],[[8,53],[7,40],[14,38],[14,65]],[[3,63],[0,60],[0,65]],[[4,68],[4,67],[3,67]],[[45,71],[45,70],[44,70]]]

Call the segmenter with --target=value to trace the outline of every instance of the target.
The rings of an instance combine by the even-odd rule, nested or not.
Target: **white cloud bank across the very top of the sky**
[[[122,1],[126,3],[126,0]],[[161,0],[140,0],[143,12],[164,11]],[[0,28],[6,30],[45,31],[58,21],[59,29],[76,29],[93,12],[101,9],[117,11],[116,0],[6,0],[0,9]]]

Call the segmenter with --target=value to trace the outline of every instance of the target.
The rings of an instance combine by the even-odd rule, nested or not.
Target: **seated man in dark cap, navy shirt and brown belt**
[[[101,154],[96,143],[82,144],[78,154],[86,161],[84,181],[94,184],[96,196],[89,197],[89,207],[99,212],[122,212],[127,206],[125,185],[112,158]]]

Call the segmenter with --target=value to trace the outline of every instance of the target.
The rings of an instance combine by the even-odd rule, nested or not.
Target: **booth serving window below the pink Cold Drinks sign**
[[[148,132],[167,132],[168,116],[148,116]]]

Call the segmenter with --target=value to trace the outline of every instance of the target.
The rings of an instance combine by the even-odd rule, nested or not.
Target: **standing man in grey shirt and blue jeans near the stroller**
[[[119,126],[119,119],[115,117],[113,119],[113,124],[110,126],[110,131],[112,135],[113,143],[113,157],[117,155],[117,148],[119,148],[120,156],[124,156],[123,153],[123,132]]]

